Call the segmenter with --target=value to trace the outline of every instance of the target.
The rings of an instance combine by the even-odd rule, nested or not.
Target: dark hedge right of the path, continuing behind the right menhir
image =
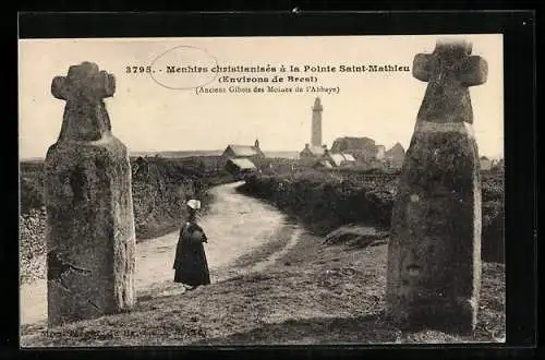
[[[319,235],[355,223],[387,229],[397,193],[397,173],[375,169],[306,169],[252,177],[240,190],[272,202]],[[483,176],[482,202],[482,257],[502,262],[504,182],[500,176]]]

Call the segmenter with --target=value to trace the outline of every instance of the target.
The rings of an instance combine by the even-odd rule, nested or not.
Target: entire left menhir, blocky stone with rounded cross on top
[[[49,326],[135,302],[131,167],[102,100],[114,89],[113,75],[89,62],[51,84],[66,105],[45,163]]]

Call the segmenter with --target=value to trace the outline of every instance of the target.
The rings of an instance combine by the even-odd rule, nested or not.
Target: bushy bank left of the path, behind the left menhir
[[[175,229],[185,216],[183,204],[189,197],[201,197],[206,211],[210,201],[209,196],[205,195],[206,189],[232,180],[232,177],[223,171],[220,158],[215,156],[146,157],[143,166],[145,171],[138,171],[136,160],[131,159],[131,165],[134,220],[138,240]],[[38,211],[44,206],[43,180],[43,163],[21,164],[22,216],[29,216],[33,209]]]

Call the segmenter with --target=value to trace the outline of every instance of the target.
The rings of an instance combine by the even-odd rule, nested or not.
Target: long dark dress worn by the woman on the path
[[[208,272],[203,242],[191,239],[191,235],[197,230],[203,232],[206,240],[203,229],[195,223],[185,223],[180,230],[173,266],[175,283],[190,286],[210,284],[210,273]]]

